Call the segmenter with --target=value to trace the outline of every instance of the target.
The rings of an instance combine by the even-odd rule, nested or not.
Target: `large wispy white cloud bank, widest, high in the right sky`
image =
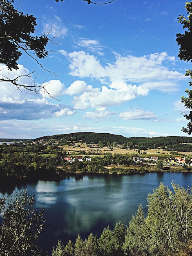
[[[128,55],[121,56],[115,54],[116,61],[102,66],[100,61],[94,56],[80,52],[69,53],[72,76],[92,77],[103,80],[109,79],[111,82],[129,81],[132,83],[151,83],[161,81],[166,84],[170,79],[185,79],[185,75],[177,71],[169,70],[167,63],[174,63],[175,57],[168,56],[166,52],[154,53],[140,57]],[[172,82],[170,86],[176,87],[177,84]],[[165,88],[163,85],[162,88]]]

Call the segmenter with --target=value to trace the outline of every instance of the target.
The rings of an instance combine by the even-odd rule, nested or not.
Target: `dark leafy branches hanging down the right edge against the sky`
[[[179,22],[183,24],[183,29],[185,30],[184,34],[177,34],[176,42],[180,45],[179,48],[179,58],[184,61],[191,61],[192,62],[192,2],[186,2],[185,9],[187,11],[187,18],[183,15],[179,16]],[[192,70],[188,70],[185,73],[185,76],[189,76],[192,79]],[[192,82],[189,81],[189,86],[192,85]],[[186,89],[185,92],[188,94],[187,97],[181,97],[181,102],[184,103],[184,106],[190,110],[189,114],[184,113],[184,117],[189,120],[186,128],[182,128],[183,132],[187,134],[192,133],[192,90]]]

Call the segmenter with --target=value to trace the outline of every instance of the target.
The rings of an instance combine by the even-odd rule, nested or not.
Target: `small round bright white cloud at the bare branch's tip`
[[[64,94],[65,86],[59,80],[50,80],[47,83],[43,83],[41,86],[45,86],[45,89],[53,98],[57,98]],[[40,94],[43,98],[51,98],[47,92],[43,89],[40,90]]]

